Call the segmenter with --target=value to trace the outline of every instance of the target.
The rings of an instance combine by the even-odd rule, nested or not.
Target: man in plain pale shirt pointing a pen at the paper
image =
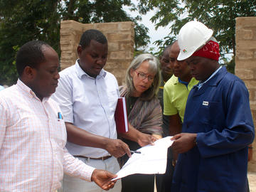
[[[107,62],[107,38],[97,30],[82,34],[75,65],[60,72],[59,86],[53,98],[60,104],[68,132],[70,154],[90,166],[112,173],[119,171],[117,157],[128,154],[127,144],[117,139],[114,111],[119,97],[116,78],[103,69]],[[130,128],[129,128],[130,129]],[[145,145],[151,136],[129,130],[127,137]],[[110,191],[121,191],[117,181]],[[94,183],[64,175],[63,191],[102,191]]]

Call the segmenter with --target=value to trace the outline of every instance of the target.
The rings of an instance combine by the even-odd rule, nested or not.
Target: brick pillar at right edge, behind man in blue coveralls
[[[241,78],[250,92],[250,108],[256,125],[256,17],[236,18],[235,26],[235,75]],[[256,172],[256,143],[248,171]]]

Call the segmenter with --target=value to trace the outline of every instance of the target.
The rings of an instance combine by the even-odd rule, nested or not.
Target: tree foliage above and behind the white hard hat
[[[163,48],[174,38],[188,21],[201,21],[212,28],[214,36],[220,41],[222,57],[227,53],[235,55],[235,18],[256,16],[256,1],[252,0],[141,0],[139,11],[156,10],[151,17],[156,28],[171,23],[170,37],[156,41]],[[166,43],[167,42],[167,43]]]

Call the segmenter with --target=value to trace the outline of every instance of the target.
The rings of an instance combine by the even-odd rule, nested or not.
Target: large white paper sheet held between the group
[[[141,154],[132,154],[132,157],[117,172],[117,180],[132,174],[164,174],[167,164],[167,149],[174,141],[171,137],[156,140],[154,145],[146,145],[138,149]]]

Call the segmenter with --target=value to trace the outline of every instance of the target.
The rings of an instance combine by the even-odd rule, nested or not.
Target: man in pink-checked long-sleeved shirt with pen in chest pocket
[[[50,98],[58,86],[58,54],[43,41],[18,50],[18,81],[0,92],[0,191],[56,191],[63,171],[108,190],[114,178],[65,149],[60,108]]]

